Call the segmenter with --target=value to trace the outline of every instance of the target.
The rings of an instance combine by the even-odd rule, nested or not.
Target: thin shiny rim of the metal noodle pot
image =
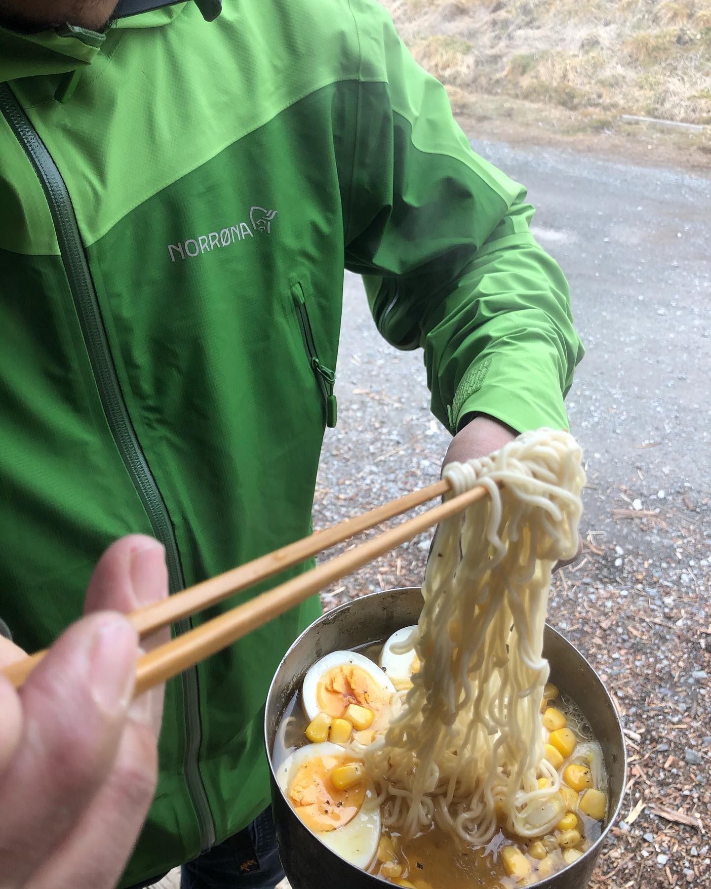
[[[380,590],[377,590],[376,592],[368,593],[365,596],[359,596],[356,599],[350,599],[348,602],[344,602],[342,605],[337,605],[335,608],[331,608],[331,609],[329,609],[329,611],[324,612],[320,617],[318,617],[316,619],[316,621],[313,621],[312,623],[310,623],[306,629],[304,629],[300,632],[299,636],[296,639],[294,639],[294,641],[292,642],[292,645],[290,645],[289,648],[284,653],[284,657],[282,658],[281,661],[279,661],[279,666],[276,668],[274,677],[272,677],[272,681],[269,683],[269,690],[267,693],[266,701],[270,700],[272,693],[274,692],[274,685],[276,682],[276,677],[281,672],[282,666],[284,665],[284,661],[289,656],[289,654],[292,652],[292,648],[294,648],[296,645],[298,645],[300,643],[301,639],[308,635],[308,633],[316,626],[316,623],[318,623],[319,621],[323,621],[324,618],[326,618],[326,617],[332,618],[333,615],[335,615],[337,613],[347,611],[348,608],[350,608],[354,602],[359,602],[363,599],[371,599],[371,598],[374,599],[376,597],[384,595],[385,593],[405,593],[405,592],[411,592],[412,590],[415,590],[415,589],[422,589],[422,588],[421,587],[394,587],[392,589],[380,589]],[[612,700],[611,694],[608,692],[605,684],[603,683],[603,680],[600,678],[599,674],[597,673],[597,670],[590,664],[590,662],[587,660],[585,655],[583,653],[581,653],[578,648],[575,647],[575,645],[573,645],[566,637],[564,637],[562,633],[559,633],[557,629],[554,629],[553,627],[551,627],[551,625],[548,622],[546,622],[546,630],[549,633],[553,633],[555,637],[558,637],[559,641],[562,640],[564,645],[568,645],[579,656],[579,658],[587,666],[587,669],[590,670],[590,672],[595,676],[598,683],[603,688],[603,693],[604,693],[604,695],[605,695],[605,697],[606,697],[609,705],[611,706],[611,709],[616,717],[616,722],[617,722],[617,725],[619,728],[619,740],[621,742],[620,747],[621,747],[621,751],[622,751],[622,784],[621,784],[622,792],[619,794],[619,800],[618,800],[618,804],[615,806],[615,811],[611,814],[611,817],[608,819],[607,824],[605,825],[604,829],[601,831],[600,836],[597,837],[597,839],[595,840],[595,843],[593,843],[593,845],[591,845],[589,849],[586,849],[586,851],[584,853],[582,853],[582,855],[580,856],[579,859],[576,859],[576,861],[573,861],[571,864],[567,864],[564,868],[555,871],[554,876],[558,877],[559,875],[564,874],[569,870],[572,871],[572,870],[576,869],[576,867],[579,867],[578,861],[582,861],[583,859],[587,859],[588,857],[591,857],[591,856],[596,857],[600,853],[603,842],[605,841],[608,834],[610,833],[612,826],[618,820],[619,813],[622,811],[622,804],[625,800],[626,789],[627,789],[627,742],[625,741],[625,733],[622,728],[622,719],[619,716],[619,711],[617,709],[617,706],[615,705],[615,702]],[[585,712],[585,711],[583,711],[583,712]],[[291,808],[291,804],[289,803],[289,800],[284,796],[284,791],[281,789],[281,787],[279,786],[279,782],[276,780],[275,767],[274,767],[274,763],[272,761],[272,749],[271,749],[271,745],[269,743],[269,736],[268,736],[268,716],[267,716],[267,713],[268,713],[268,711],[267,711],[267,708],[265,707],[264,747],[267,751],[267,762],[268,762],[268,766],[269,766],[269,772],[271,773],[272,778],[273,778],[272,785],[274,787],[276,787],[278,792],[283,797],[284,803],[287,806],[289,806],[290,811],[293,812],[293,810]],[[297,818],[298,816],[294,814],[294,817]],[[316,837],[316,839],[318,839],[317,835],[315,833],[313,833],[313,831],[311,831],[311,833],[312,833],[312,836],[314,836],[314,837]],[[324,848],[328,849],[328,846],[324,846]],[[338,853],[333,853],[332,850],[330,850],[330,849],[329,849],[329,852],[331,852],[332,854],[338,854]],[[341,861],[345,861],[346,864],[350,865],[350,867],[352,867],[353,869],[363,871],[362,868],[356,867],[355,864],[350,864],[349,861],[346,861],[346,859],[342,858],[340,855],[338,857],[340,858]],[[365,871],[365,873],[367,873],[367,871]],[[371,877],[374,880],[377,880],[380,885],[390,886],[390,887],[392,887],[392,885],[393,885],[388,880],[385,880],[382,877],[378,877],[375,874],[367,874],[367,876]],[[545,877],[543,880],[540,880],[539,883],[531,884],[531,889],[536,889],[537,886],[544,886],[545,887],[545,881],[547,879],[548,879],[548,877]]]

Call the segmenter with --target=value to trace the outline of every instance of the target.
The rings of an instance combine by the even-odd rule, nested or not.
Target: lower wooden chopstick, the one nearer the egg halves
[[[429,487],[432,488],[435,485],[430,485]],[[433,509],[427,509],[426,512],[420,513],[419,516],[408,519],[402,525],[397,525],[395,528],[373,537],[370,541],[365,541],[354,549],[349,549],[347,552],[341,553],[340,556],[324,562],[323,565],[318,565],[311,571],[292,578],[291,581],[286,581],[280,586],[244,602],[242,605],[237,605],[236,608],[231,609],[227,613],[220,614],[218,617],[212,618],[211,621],[206,621],[201,626],[171,639],[170,642],[158,646],[151,652],[141,655],[136,668],[134,697],[137,697],[154,685],[159,685],[166,679],[177,676],[183,670],[195,666],[199,661],[204,661],[211,654],[221,651],[221,649],[231,645],[237,639],[251,633],[252,630],[263,626],[268,621],[274,620],[274,618],[295,605],[299,605],[308,599],[309,596],[313,596],[320,589],[324,589],[329,583],[340,580],[341,577],[356,571],[357,568],[362,567],[372,559],[382,556],[383,553],[390,549],[395,549],[396,546],[404,543],[404,541],[408,541],[419,533],[427,531],[427,528],[437,525],[444,518],[453,516],[462,509],[466,509],[471,503],[481,500],[484,496],[486,496],[486,489],[478,486],[459,494],[457,497],[452,497],[451,500],[445,501]],[[373,510],[373,512],[375,511]],[[338,527],[338,525],[335,527]],[[331,530],[334,531],[335,528]],[[321,535],[318,534],[316,536],[319,537]],[[213,578],[213,581],[220,581],[221,578],[228,577],[231,574],[232,572],[221,574],[219,577]],[[203,584],[198,586],[203,586]],[[226,595],[229,595],[232,589],[230,587]],[[210,592],[210,604],[215,601],[212,598],[214,594],[215,591],[212,590]],[[203,607],[204,604],[201,601],[195,611],[200,611]],[[5,676],[14,685],[21,685],[28,676],[29,670],[20,671],[17,669],[28,661],[35,661],[29,665],[30,668],[34,668],[36,666],[36,655],[27,658],[25,661],[20,661],[18,664],[12,664],[11,667],[4,670]]]

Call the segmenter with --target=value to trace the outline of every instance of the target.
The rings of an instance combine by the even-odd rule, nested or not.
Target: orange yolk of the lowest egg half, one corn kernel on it
[[[333,786],[329,777],[336,765],[353,762],[342,757],[316,757],[300,766],[289,786],[289,799],[309,830],[342,828],[356,817],[365,798],[365,782],[348,790]]]

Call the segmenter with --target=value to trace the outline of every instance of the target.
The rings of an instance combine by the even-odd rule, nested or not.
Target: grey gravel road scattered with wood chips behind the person
[[[594,886],[708,886],[711,180],[473,144],[529,188],[587,346],[568,398],[587,454],[585,551],[559,573],[550,621],[601,672],[627,726],[627,821]],[[449,440],[428,412],[421,354],[379,338],[350,275],[337,393],[316,527],[434,480]],[[325,607],[419,583],[427,548],[425,536],[367,566]]]

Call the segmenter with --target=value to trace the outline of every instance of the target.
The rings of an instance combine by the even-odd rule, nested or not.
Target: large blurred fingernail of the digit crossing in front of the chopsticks
[[[125,618],[109,617],[96,630],[90,662],[90,689],[100,709],[114,716],[131,701],[138,637]]]

